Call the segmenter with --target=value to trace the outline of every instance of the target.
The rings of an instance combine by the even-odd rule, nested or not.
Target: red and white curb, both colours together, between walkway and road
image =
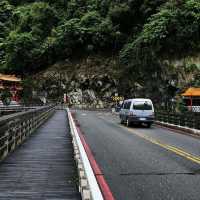
[[[78,168],[79,191],[83,200],[114,200],[108,184],[96,163],[81,130],[76,126],[69,109],[69,125],[74,147],[74,158]]]

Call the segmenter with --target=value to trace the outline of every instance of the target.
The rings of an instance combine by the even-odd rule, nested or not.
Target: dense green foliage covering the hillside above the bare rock
[[[162,58],[199,48],[199,0],[0,2],[0,69],[9,72],[33,73],[67,58],[119,53],[123,76],[142,84],[159,78]]]

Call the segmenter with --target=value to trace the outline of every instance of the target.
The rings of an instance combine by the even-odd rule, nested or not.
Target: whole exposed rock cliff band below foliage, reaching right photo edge
[[[199,55],[184,59],[165,59],[162,63],[162,80],[154,80],[157,87],[154,92],[147,90],[152,87],[152,80],[149,80],[149,84],[137,82],[124,86],[123,83],[127,80],[126,77],[121,77],[120,67],[114,56],[95,55],[76,61],[65,60],[40,72],[34,79],[36,90],[41,96],[46,95],[49,100],[60,97],[62,101],[65,93],[69,104],[83,108],[110,107],[115,104],[112,96],[116,94],[125,98],[152,99],[161,94],[169,101],[177,91],[189,87],[192,82],[198,82],[196,79],[200,74]],[[128,87],[126,91],[125,87]]]

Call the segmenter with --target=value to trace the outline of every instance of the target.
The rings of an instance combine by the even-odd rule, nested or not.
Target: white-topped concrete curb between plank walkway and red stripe
[[[79,137],[71,112],[69,111],[69,109],[66,109],[66,111],[68,113],[69,125],[72,135],[75,161],[77,164],[78,175],[79,175],[79,191],[81,193],[82,199],[103,200],[102,193],[100,191],[97,180],[93,173],[84,146]]]

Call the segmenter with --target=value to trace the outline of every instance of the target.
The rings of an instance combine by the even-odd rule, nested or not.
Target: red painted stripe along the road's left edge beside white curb
[[[73,119],[74,119],[74,116],[73,116]],[[76,120],[76,122],[77,122],[77,120]],[[99,165],[97,164],[89,145],[86,142],[85,136],[83,135],[81,129],[79,127],[77,127],[77,124],[76,124],[76,128],[77,128],[79,137],[81,139],[81,142],[83,144],[83,147],[84,147],[86,154],[88,156],[88,159],[90,161],[94,175],[97,179],[97,183],[98,183],[98,185],[101,189],[101,192],[103,194],[104,200],[115,200],[115,198],[114,198],[114,196],[113,196],[113,194],[112,194],[112,192],[111,192],[111,190],[110,190],[110,188],[109,188],[109,186],[108,186],[108,184],[107,184],[107,182],[106,182],[106,180],[103,176],[103,173],[102,173]]]

